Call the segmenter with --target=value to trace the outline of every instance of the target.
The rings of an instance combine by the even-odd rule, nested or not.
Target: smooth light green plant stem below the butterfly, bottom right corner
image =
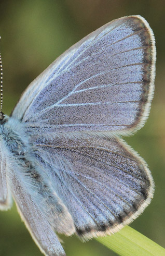
[[[112,236],[96,238],[103,245],[122,256],[165,256],[165,249],[135,229],[126,226]]]

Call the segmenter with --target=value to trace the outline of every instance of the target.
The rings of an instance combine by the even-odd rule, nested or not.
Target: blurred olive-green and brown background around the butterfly
[[[4,105],[10,114],[21,92],[54,59],[88,33],[113,19],[141,15],[153,29],[157,46],[155,95],[143,129],[126,141],[145,159],[155,180],[155,196],[131,226],[165,247],[165,2],[132,0],[1,0],[0,35]],[[62,237],[68,256],[116,255],[94,239],[82,243]],[[0,212],[0,255],[42,255],[21,222],[16,206]]]

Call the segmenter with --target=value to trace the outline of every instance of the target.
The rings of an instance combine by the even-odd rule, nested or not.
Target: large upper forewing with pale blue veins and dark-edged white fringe
[[[107,23],[76,43],[23,93],[12,116],[35,132],[131,132],[153,96],[155,41],[140,16]]]

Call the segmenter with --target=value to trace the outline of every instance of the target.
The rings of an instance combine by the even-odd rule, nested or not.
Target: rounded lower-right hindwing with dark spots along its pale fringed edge
[[[40,166],[49,170],[52,187],[79,236],[115,233],[139,216],[153,197],[145,162],[119,138],[38,137],[33,149]]]

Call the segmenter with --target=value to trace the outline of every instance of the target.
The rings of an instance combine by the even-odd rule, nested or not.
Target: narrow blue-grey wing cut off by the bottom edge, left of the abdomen
[[[66,255],[44,213],[34,203],[25,184],[13,170],[10,172],[10,186],[20,216],[40,251],[49,256]]]

